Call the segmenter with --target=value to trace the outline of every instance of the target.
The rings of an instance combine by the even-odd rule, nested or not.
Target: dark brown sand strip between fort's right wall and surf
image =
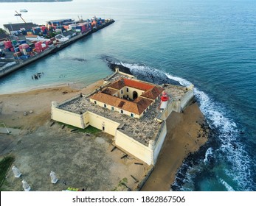
[[[207,128],[198,104],[188,106],[184,113],[173,112],[167,118],[167,136],[156,166],[142,191],[170,191],[176,171],[188,154],[198,151],[207,142]]]

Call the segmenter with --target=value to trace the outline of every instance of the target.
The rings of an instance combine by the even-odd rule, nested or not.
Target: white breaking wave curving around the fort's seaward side
[[[187,79],[176,77],[156,68],[151,68],[144,64],[120,63],[130,69],[131,73],[139,79],[154,82],[156,84],[168,83],[171,81],[179,82],[180,85],[191,85]],[[194,89],[194,93],[199,104],[200,110],[204,113],[207,123],[213,132],[213,146],[210,146],[204,155],[197,157],[197,164],[186,162],[181,166],[178,173],[183,173],[182,178],[176,176],[173,185],[174,188],[181,191],[193,191],[195,189],[194,180],[201,170],[211,170],[207,173],[213,173],[215,180],[221,182],[227,191],[253,191],[252,185],[252,160],[247,154],[243,144],[239,141],[243,132],[238,131],[235,121],[232,120],[229,111],[224,104],[215,102],[199,88]],[[193,161],[194,162],[194,161]],[[206,165],[210,164],[210,167]],[[186,168],[186,171],[184,171]],[[221,172],[220,172],[221,171]],[[206,173],[206,175],[208,175]],[[219,174],[221,173],[221,174]],[[218,175],[220,177],[218,177]],[[226,178],[226,179],[225,179]],[[231,186],[233,185],[233,186]],[[235,188],[235,189],[234,189]]]

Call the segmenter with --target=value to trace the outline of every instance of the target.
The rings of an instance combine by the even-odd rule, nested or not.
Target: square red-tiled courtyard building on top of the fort
[[[163,90],[156,85],[122,78],[92,95],[90,101],[100,107],[140,118],[159,99]]]

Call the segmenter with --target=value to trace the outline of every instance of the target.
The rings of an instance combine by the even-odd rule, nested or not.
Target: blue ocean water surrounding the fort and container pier
[[[56,8],[58,7],[58,10]],[[184,161],[174,191],[256,191],[256,2],[252,0],[74,0],[0,3],[0,26],[21,20],[114,18],[111,26],[0,79],[0,93],[111,74],[103,57],[142,79],[195,85],[210,141]],[[83,61],[81,61],[82,59]],[[41,79],[31,76],[44,72]]]

